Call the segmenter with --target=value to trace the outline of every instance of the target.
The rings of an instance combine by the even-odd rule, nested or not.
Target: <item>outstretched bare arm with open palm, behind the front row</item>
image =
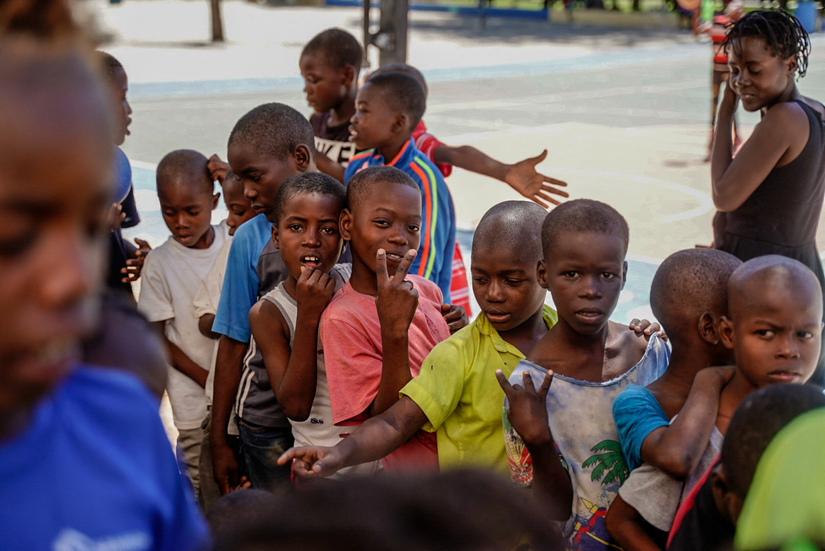
[[[567,182],[544,176],[535,170],[535,166],[547,157],[547,149],[536,156],[526,158],[515,164],[505,164],[489,157],[486,153],[469,146],[439,145],[432,152],[432,158],[440,164],[451,164],[471,172],[477,172],[505,182],[508,186],[535,201],[545,209],[550,205],[559,205],[560,201],[550,194],[568,197],[567,191],[556,189],[554,186],[567,186]]]

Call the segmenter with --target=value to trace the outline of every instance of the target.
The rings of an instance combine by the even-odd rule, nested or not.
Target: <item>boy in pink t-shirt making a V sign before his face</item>
[[[340,230],[350,242],[352,275],[321,318],[332,422],[360,425],[398,401],[433,346],[462,323],[442,317],[441,290],[407,271],[421,240],[421,191],[394,167],[370,167],[347,186]],[[392,276],[390,276],[392,275]],[[464,318],[465,319],[465,318]],[[384,458],[388,469],[437,469],[436,439],[418,431]]]

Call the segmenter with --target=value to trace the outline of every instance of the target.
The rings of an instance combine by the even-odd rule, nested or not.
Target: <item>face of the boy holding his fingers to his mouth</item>
[[[272,240],[296,280],[301,266],[328,273],[341,256],[339,205],[334,197],[317,193],[300,193],[286,201],[281,220],[272,226]]]

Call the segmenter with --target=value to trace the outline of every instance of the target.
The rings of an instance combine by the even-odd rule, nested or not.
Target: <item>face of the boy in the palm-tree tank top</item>
[[[539,282],[576,332],[595,335],[606,326],[625,286],[625,247],[614,235],[562,232],[544,251]]]

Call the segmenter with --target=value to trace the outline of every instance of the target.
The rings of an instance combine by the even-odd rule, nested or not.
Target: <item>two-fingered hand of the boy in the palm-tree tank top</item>
[[[517,368],[516,368],[517,369]],[[521,436],[521,440],[530,445],[546,445],[553,441],[547,420],[547,393],[553,383],[553,371],[548,370],[538,392],[533,385],[530,373],[524,372],[524,387],[511,385],[502,370],[496,370],[496,379],[507,395],[510,407],[507,419]]]

